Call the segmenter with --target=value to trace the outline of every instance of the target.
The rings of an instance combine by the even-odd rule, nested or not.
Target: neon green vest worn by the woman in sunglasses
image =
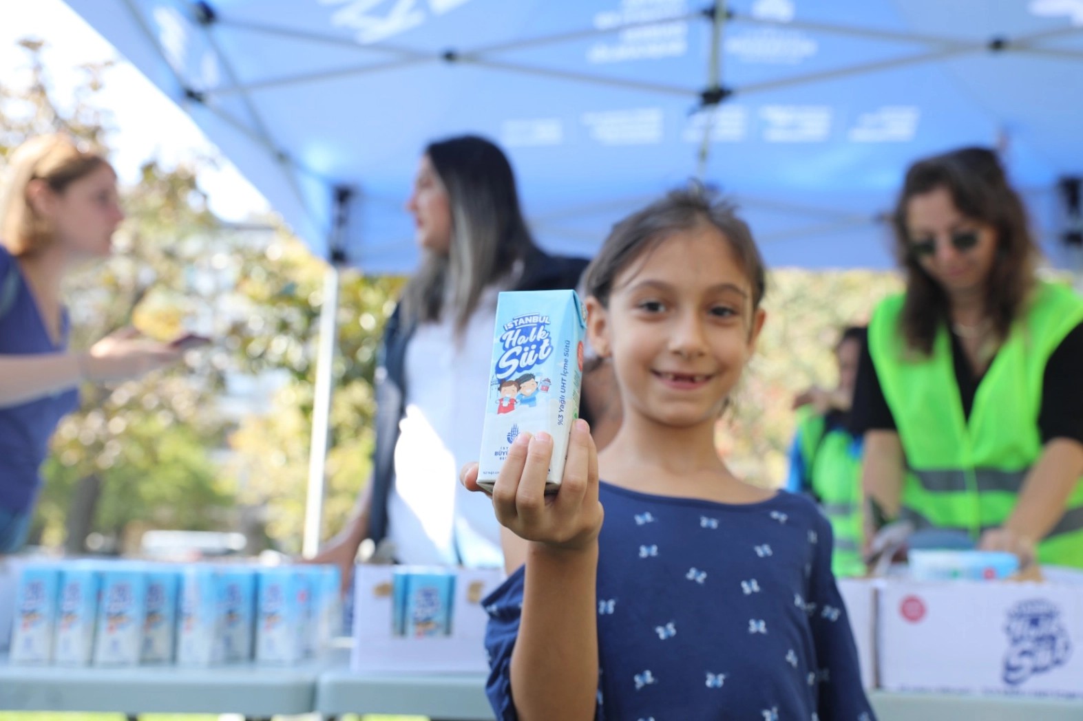
[[[910,471],[902,517],[918,527],[963,529],[977,540],[1007,520],[1042,453],[1038,417],[1045,365],[1083,322],[1083,298],[1067,286],[1036,285],[978,384],[969,419],[948,329],[938,330],[931,356],[910,349],[902,305],[902,296],[884,300],[869,326],[869,350]],[[1039,560],[1083,567],[1083,479],[1039,545]]]

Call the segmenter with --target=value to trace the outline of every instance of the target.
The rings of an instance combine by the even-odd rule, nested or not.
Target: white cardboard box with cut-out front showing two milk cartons
[[[351,670],[486,672],[488,661],[484,638],[488,616],[481,606],[481,600],[504,581],[504,571],[455,569],[451,633],[410,638],[394,633],[395,568],[377,565],[355,567]]]

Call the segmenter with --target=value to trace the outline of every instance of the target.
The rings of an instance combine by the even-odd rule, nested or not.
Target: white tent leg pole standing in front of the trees
[[[304,506],[304,539],[301,553],[309,559],[319,550],[324,513],[324,481],[327,466],[334,360],[337,342],[339,268],[331,263],[324,274],[323,305],[319,309],[316,385],[312,404],[312,445],[309,451],[309,489]]]

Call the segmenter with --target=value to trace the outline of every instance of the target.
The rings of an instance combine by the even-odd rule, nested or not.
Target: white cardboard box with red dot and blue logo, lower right
[[[1083,696],[1083,585],[889,580],[878,597],[887,691]]]

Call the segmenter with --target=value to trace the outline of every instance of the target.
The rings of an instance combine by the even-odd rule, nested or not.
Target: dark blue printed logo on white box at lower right
[[[1004,656],[1004,683],[1008,685],[1064,666],[1072,653],[1060,609],[1044,599],[1017,603],[1008,611],[1004,632],[1009,643]]]

